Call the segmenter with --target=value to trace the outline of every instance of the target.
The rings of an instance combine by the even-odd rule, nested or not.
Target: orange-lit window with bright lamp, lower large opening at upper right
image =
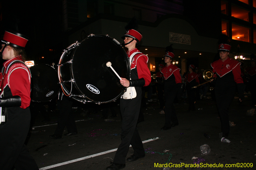
[[[239,41],[245,41],[245,42],[251,42],[250,41],[250,28],[232,24],[232,39],[239,40]]]

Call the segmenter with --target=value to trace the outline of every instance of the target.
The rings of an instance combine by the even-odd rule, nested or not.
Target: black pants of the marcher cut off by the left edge
[[[14,166],[16,170],[38,170],[36,161],[24,144],[30,124],[29,108],[17,110],[8,111],[7,122],[0,125],[0,169],[11,170]]]

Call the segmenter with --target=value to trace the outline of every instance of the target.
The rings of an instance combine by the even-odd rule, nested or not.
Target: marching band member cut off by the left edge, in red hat
[[[38,170],[36,161],[24,144],[30,125],[31,74],[25,61],[24,48],[28,37],[14,31],[5,31],[1,55],[4,67],[0,74],[0,107],[7,121],[0,125],[0,169]]]

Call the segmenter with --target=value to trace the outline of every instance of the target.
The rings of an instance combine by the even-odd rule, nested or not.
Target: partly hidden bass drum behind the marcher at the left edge
[[[31,100],[46,102],[54,99],[60,92],[57,71],[47,64],[37,64],[29,69],[31,72]]]

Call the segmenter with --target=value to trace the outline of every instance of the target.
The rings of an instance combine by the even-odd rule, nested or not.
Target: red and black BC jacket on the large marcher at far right
[[[240,64],[229,57],[224,61],[219,59],[211,63],[212,72],[216,73],[217,77],[215,90],[219,89],[225,92],[226,89],[237,85],[239,98],[244,98],[244,82],[243,78],[241,78]]]

